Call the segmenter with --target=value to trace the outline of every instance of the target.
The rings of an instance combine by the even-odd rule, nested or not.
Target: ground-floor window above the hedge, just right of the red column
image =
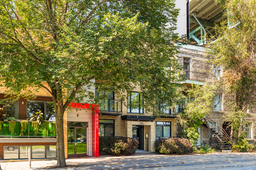
[[[99,119],[99,136],[114,136],[114,120]]]

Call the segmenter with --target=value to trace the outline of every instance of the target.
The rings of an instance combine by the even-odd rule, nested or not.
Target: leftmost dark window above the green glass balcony
[[[18,101],[11,102],[6,101],[4,102],[4,111],[6,111],[6,115],[8,120],[15,120],[19,119],[19,109],[18,109]]]

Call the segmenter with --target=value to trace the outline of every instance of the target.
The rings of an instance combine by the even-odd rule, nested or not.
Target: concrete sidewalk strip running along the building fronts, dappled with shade
[[[216,153],[205,155],[160,155],[137,153],[129,156],[101,155],[100,157],[73,157],[67,159],[66,168],[56,168],[56,160],[32,161],[32,170],[85,170],[134,167],[137,165],[169,165],[177,163],[203,163],[218,161],[256,160],[256,153]],[[2,162],[3,170],[29,170],[28,161]],[[183,164],[184,165],[184,164]],[[133,169],[133,168],[132,168]],[[135,169],[135,167],[134,167]]]

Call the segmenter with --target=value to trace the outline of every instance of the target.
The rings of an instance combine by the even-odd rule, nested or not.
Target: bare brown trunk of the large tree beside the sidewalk
[[[64,130],[63,130],[63,109],[57,110],[56,115],[56,152],[57,152],[57,166],[63,167],[66,166],[65,160],[65,148],[64,148]]]

